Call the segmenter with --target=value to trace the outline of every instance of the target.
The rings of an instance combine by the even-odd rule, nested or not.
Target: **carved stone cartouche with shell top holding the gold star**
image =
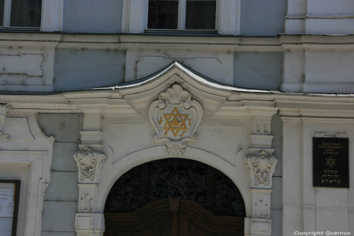
[[[186,141],[196,141],[195,133],[203,116],[202,106],[180,84],[174,83],[161,92],[149,108],[156,142],[165,142],[167,152],[182,155]]]

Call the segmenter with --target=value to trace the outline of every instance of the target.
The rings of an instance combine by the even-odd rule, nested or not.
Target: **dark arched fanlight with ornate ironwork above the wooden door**
[[[133,212],[168,198],[192,201],[215,215],[245,215],[242,196],[229,177],[183,158],[148,162],[123,174],[111,188],[105,212]]]

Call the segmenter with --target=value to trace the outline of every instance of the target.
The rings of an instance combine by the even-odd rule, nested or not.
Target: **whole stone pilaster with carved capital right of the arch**
[[[245,219],[245,235],[271,235],[272,175],[278,159],[273,155],[271,120],[275,110],[257,112],[252,118],[250,148],[245,165],[250,174],[252,216]]]

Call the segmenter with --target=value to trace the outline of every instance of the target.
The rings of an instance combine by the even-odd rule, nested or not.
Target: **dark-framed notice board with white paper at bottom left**
[[[20,180],[0,179],[0,235],[16,236]]]

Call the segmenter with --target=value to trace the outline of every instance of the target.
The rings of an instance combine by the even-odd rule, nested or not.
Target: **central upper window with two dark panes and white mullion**
[[[216,0],[149,0],[148,29],[215,30]]]

